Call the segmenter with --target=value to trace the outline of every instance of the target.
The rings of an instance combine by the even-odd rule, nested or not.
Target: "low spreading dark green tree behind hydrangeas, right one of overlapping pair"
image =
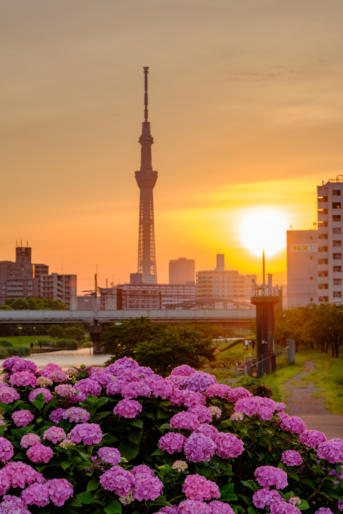
[[[167,327],[150,340],[137,344],[134,353],[141,366],[149,366],[163,376],[181,364],[200,368],[214,360],[212,338],[178,326]]]

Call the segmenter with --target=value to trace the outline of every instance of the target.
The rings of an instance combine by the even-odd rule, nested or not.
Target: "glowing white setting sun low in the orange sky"
[[[240,223],[241,241],[253,255],[275,255],[286,247],[286,214],[274,207],[244,211]]]

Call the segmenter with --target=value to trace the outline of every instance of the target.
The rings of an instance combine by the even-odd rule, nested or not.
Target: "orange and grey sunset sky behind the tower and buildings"
[[[0,0],[0,260],[16,241],[79,292],[137,271],[149,66],[157,277],[170,259],[286,283],[343,173],[341,0]]]

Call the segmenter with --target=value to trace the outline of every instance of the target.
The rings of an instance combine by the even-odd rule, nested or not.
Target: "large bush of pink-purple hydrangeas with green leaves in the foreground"
[[[0,383],[0,514],[339,514],[343,440],[183,365],[130,358]]]

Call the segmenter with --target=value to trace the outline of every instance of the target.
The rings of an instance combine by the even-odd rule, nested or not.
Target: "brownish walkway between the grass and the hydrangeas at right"
[[[320,430],[324,432],[328,439],[339,437],[343,439],[343,415],[330,414],[324,408],[321,397],[312,396],[318,393],[318,389],[313,386],[313,382],[301,380],[315,370],[315,365],[311,359],[305,362],[305,370],[299,373],[284,385],[290,390],[291,394],[286,399],[287,413],[290,416],[299,416],[307,425],[309,430]]]

